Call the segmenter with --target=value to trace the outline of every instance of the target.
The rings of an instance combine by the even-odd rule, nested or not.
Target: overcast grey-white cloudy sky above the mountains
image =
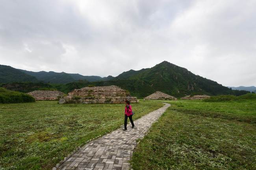
[[[256,86],[256,0],[0,0],[0,64],[117,76],[167,60]]]

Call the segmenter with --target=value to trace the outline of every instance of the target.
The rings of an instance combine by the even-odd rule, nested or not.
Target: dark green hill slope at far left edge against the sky
[[[36,82],[37,78],[23,73],[11,66],[0,65],[0,83],[8,82]]]

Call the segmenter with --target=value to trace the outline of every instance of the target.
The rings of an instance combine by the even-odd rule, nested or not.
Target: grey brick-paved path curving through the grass
[[[134,121],[135,128],[119,128],[107,135],[89,142],[73,154],[57,170],[129,170],[136,139],[143,138],[170,104],[144,115]],[[53,168],[55,169],[55,168]]]

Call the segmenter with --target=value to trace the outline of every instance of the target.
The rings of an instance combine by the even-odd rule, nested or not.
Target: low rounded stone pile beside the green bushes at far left
[[[28,93],[36,101],[56,101],[63,97],[64,93],[60,91],[35,90]]]

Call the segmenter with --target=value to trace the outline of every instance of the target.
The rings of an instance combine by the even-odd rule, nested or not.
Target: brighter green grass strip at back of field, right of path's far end
[[[228,102],[178,100],[165,102],[172,104],[171,110],[182,111],[183,113],[256,123],[256,100]]]

